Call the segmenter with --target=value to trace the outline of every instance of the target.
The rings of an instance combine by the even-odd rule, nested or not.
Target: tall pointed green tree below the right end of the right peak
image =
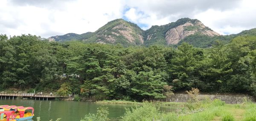
[[[231,62],[227,58],[227,49],[220,41],[215,41],[213,48],[210,51],[209,57],[201,66],[201,75],[204,82],[208,84],[210,90],[226,92],[227,78],[230,78],[230,73],[233,69],[230,67]]]

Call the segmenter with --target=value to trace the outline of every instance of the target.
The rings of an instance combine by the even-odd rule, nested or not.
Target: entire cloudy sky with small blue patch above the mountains
[[[0,34],[48,38],[94,32],[123,18],[142,29],[182,17],[222,35],[256,28],[256,0],[1,0]]]

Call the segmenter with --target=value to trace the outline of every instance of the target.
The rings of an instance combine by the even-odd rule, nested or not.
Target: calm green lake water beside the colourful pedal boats
[[[49,121],[50,119],[61,118],[61,121],[80,121],[84,115],[88,113],[96,113],[96,109],[101,104],[93,102],[76,102],[76,101],[35,101],[35,100],[0,100],[0,105],[16,105],[24,107],[34,107],[35,116],[40,117],[41,121]],[[110,119],[120,119],[120,116],[124,115],[125,107],[135,107],[134,105],[119,105],[119,104],[107,104],[105,107],[109,108]],[[178,107],[161,106],[160,110],[173,111]]]

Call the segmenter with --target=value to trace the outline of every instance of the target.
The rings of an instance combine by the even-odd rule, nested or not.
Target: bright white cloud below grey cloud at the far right
[[[226,35],[236,34],[246,29],[256,27],[256,4],[254,1],[243,0],[241,4],[227,11],[208,9],[205,12],[195,14],[194,18],[201,20],[214,31]]]

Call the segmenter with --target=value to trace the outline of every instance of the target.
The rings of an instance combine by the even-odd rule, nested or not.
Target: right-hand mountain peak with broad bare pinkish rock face
[[[145,31],[145,45],[165,43],[174,45],[189,35],[207,35],[209,37],[219,36],[217,32],[204,26],[197,19],[182,18],[163,26],[152,26]]]

